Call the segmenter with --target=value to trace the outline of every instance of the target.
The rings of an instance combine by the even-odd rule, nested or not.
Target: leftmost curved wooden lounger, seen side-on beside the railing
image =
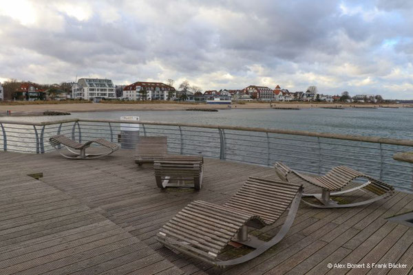
[[[50,145],[52,145],[53,148],[55,148],[56,151],[59,152],[59,154],[63,155],[63,157],[66,157],[68,159],[95,159],[97,157],[103,157],[105,155],[110,155],[114,153],[114,151],[118,150],[119,148],[118,144],[114,142],[108,142],[107,140],[104,140],[103,138],[97,138],[95,140],[90,140],[82,144],[79,142],[75,142],[74,140],[71,140],[69,137],[66,137],[65,135],[55,135],[53,137],[50,137],[49,142],[50,142]],[[86,148],[88,148],[93,143],[104,146],[105,148],[109,150],[103,153],[87,154]],[[60,148],[61,145],[65,146],[67,148],[67,151],[70,151],[70,153],[72,153],[73,155],[65,155],[61,153],[61,148]],[[79,153],[74,150],[79,151]]]

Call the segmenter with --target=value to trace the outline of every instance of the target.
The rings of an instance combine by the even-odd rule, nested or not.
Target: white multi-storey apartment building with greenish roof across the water
[[[116,98],[115,86],[110,79],[81,78],[72,86],[72,98]]]

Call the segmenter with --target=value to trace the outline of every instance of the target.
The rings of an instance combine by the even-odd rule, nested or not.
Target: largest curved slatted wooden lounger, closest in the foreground
[[[165,224],[156,238],[169,248],[219,267],[244,263],[279,243],[293,224],[302,186],[285,181],[250,177],[238,192],[222,205],[193,201]],[[247,226],[271,225],[288,210],[282,228],[270,241],[248,235]],[[229,261],[220,252],[230,241],[242,243],[252,252]]]

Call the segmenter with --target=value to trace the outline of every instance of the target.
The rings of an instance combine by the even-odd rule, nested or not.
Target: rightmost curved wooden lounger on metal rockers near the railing
[[[295,170],[291,170],[288,166],[282,164],[281,162],[275,163],[275,169],[277,175],[279,175],[279,177],[283,180],[295,184],[313,184],[314,186],[321,188],[321,194],[303,194],[303,197],[315,197],[316,199],[318,199],[322,204],[310,203],[303,199],[304,203],[317,208],[345,208],[352,206],[363,206],[365,204],[378,201],[379,199],[390,197],[394,193],[393,186],[385,184],[382,181],[374,179],[346,166],[337,166],[335,168],[332,168],[330,171],[328,171],[328,173],[326,173],[326,175],[320,177],[298,173]],[[352,182],[354,179],[359,178],[367,179],[366,183],[347,190],[341,190],[342,188],[350,184],[350,182]],[[367,199],[366,201],[344,204],[339,204],[336,201],[330,199],[330,196],[343,195],[348,192],[360,190],[361,188],[363,188],[363,190],[368,190],[374,193],[375,195],[377,195],[377,197]]]

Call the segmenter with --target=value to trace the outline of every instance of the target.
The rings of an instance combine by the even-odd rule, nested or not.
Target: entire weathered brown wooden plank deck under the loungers
[[[0,274],[409,274],[413,228],[386,217],[413,210],[413,195],[350,209],[301,203],[286,238],[261,256],[220,270],[164,248],[154,236],[194,199],[223,203],[250,175],[271,168],[205,159],[202,190],[156,187],[153,168],[134,152],[70,160],[56,153],[0,152]],[[30,173],[43,173],[40,180]],[[306,192],[310,188],[307,186]],[[366,195],[357,192],[349,201]],[[255,230],[261,239],[275,225]],[[228,249],[230,259],[243,253]],[[329,269],[328,263],[401,263],[403,269]]]

